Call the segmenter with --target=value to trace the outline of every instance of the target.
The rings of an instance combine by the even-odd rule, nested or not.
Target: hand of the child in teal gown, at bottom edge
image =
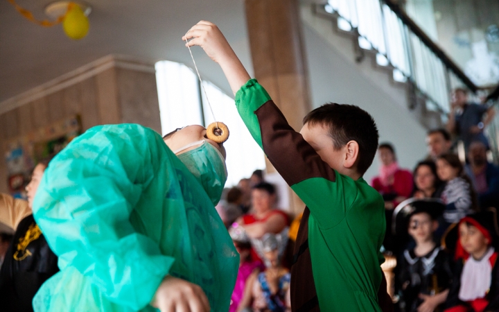
[[[157,288],[151,305],[161,312],[209,312],[207,296],[200,286],[167,276]]]

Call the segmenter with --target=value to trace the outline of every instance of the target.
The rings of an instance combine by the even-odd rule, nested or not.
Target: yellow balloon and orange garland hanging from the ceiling
[[[64,33],[73,40],[80,40],[84,38],[89,31],[89,20],[87,17],[89,8],[85,8],[85,11],[87,13],[85,14],[84,10],[82,10],[82,7],[78,3],[70,1],[58,1],[57,3],[52,3],[51,5],[47,6],[47,8],[49,8],[50,6],[53,6],[53,4],[55,4],[55,6],[62,6],[63,8],[65,8],[65,11],[63,10],[62,12],[60,12],[55,20],[49,21],[48,19],[36,19],[32,12],[19,6],[19,4],[15,2],[15,0],[7,1],[12,4],[17,12],[19,12],[19,14],[21,14],[24,18],[39,26],[52,27],[62,23],[62,29],[64,30]]]

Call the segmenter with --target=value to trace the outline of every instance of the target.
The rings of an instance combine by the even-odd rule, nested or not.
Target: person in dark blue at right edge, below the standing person
[[[471,143],[466,174],[478,193],[481,208],[499,208],[499,168],[487,162],[487,146],[481,141]]]

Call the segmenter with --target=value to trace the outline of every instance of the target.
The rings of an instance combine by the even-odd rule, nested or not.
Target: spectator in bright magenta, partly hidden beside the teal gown
[[[263,270],[263,263],[260,261],[252,261],[251,250],[252,246],[243,229],[237,223],[234,223],[229,228],[229,234],[237,252],[239,253],[239,270],[236,279],[236,286],[231,296],[231,304],[229,312],[240,311],[239,306],[249,306],[251,304],[251,296],[246,288],[246,281],[252,274],[258,274]]]

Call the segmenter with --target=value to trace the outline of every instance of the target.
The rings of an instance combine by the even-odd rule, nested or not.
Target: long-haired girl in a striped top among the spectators
[[[459,222],[478,209],[475,191],[457,155],[441,155],[437,159],[437,173],[440,180],[446,182],[441,199],[446,204],[444,219],[447,225]]]

